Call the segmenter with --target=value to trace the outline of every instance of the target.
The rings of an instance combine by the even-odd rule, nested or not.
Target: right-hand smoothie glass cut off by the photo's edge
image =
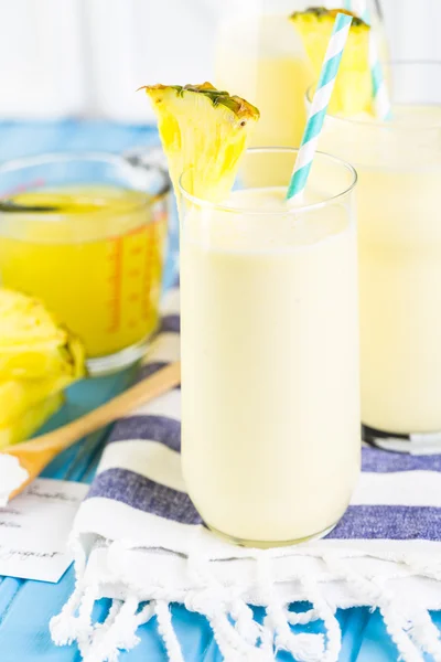
[[[392,118],[327,117],[320,148],[357,169],[362,419],[399,450],[441,431],[441,62],[387,76]]]

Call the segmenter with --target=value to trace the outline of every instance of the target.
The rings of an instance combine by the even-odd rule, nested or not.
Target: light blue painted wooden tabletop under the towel
[[[0,161],[47,151],[103,150],[120,152],[137,146],[158,143],[151,127],[132,127],[106,121],[61,122],[0,122]],[[164,286],[173,278],[173,255],[178,238],[171,237]],[[46,429],[71,420],[96,407],[123,389],[132,381],[133,371],[111,377],[84,382],[73,386],[68,401],[46,426]],[[94,476],[108,429],[90,435],[57,457],[44,476],[64,480],[89,482]],[[11,577],[0,578],[0,662],[79,662],[75,645],[56,648],[49,633],[49,620],[57,613],[74,586],[72,567],[58,584],[26,581]],[[96,617],[103,618],[108,602],[101,600]],[[434,616],[441,627],[441,613]],[[182,642],[185,660],[218,662],[216,648],[207,623],[202,617],[173,607],[173,620]],[[377,611],[348,609],[338,612],[343,631],[340,660],[344,662],[395,662],[395,645],[386,633]],[[310,626],[310,628],[313,626]],[[121,653],[121,662],[165,662],[165,652],[155,632],[154,619],[140,628],[141,643],[129,653]],[[288,658],[280,655],[281,660]],[[429,660],[429,658],[427,658]]]

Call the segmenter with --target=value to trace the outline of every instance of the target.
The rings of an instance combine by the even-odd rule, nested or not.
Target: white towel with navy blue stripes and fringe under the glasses
[[[179,290],[142,376],[179,359]],[[363,448],[363,472],[340,524],[322,541],[269,551],[235,547],[201,525],[180,467],[179,388],[118,421],[73,532],[77,584],[52,620],[87,662],[115,661],[153,615],[170,660],[183,662],[170,602],[208,619],[227,661],[337,660],[337,607],[378,607],[405,660],[441,660],[429,609],[441,609],[441,456]],[[96,599],[114,599],[92,622]],[[312,609],[297,613],[291,602]],[[263,622],[248,605],[266,608]],[[290,624],[322,620],[326,634]]]

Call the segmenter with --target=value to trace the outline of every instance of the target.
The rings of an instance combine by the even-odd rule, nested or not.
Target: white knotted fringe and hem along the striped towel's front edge
[[[422,662],[427,652],[441,662],[440,632],[428,611],[441,608],[437,558],[359,557],[347,551],[321,552],[319,546],[313,557],[311,549],[306,557],[299,547],[284,559],[280,549],[270,549],[225,563],[197,551],[183,558],[104,540],[94,545],[87,565],[78,545],[75,555],[75,591],[52,619],[51,632],[58,645],[76,641],[85,662],[117,662],[119,651],[139,642],[139,626],[153,616],[170,662],[185,662],[172,622],[174,601],[206,617],[227,662],[269,662],[278,651],[288,651],[298,662],[336,662],[341,630],[335,611],[352,606],[380,610],[402,660]],[[288,562],[282,569],[281,560]],[[150,574],[147,584],[148,567],[154,567],[155,580]],[[112,597],[112,605],[104,623],[93,623],[100,597]],[[297,601],[312,608],[290,611]],[[262,623],[249,605],[265,608]],[[291,629],[313,621],[322,622],[324,634]]]

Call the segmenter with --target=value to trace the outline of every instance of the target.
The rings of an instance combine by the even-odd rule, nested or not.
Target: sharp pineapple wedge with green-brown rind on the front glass
[[[192,195],[212,202],[227,197],[258,109],[209,83],[143,89],[158,116],[174,190],[185,172],[185,188]]]

